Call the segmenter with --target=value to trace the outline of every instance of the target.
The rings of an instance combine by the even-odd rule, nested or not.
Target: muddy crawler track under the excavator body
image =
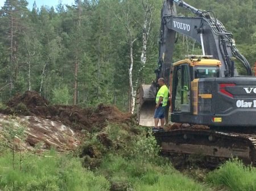
[[[212,166],[238,157],[256,166],[256,134],[210,129],[175,129],[155,132],[164,155],[200,155]]]

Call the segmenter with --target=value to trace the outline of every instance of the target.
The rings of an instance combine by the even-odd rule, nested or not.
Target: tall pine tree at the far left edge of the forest
[[[27,19],[26,0],[6,0],[0,11],[1,15],[1,31],[5,46],[8,47],[7,54],[9,55],[9,63],[6,66],[8,72],[7,84],[9,84],[9,95],[14,90],[14,84],[19,75],[19,43],[23,37],[22,32],[26,29]]]

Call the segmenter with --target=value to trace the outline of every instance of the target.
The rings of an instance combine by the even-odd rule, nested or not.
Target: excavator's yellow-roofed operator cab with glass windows
[[[191,113],[194,107],[192,86],[200,78],[220,77],[220,61],[190,57],[174,63],[170,87],[172,87],[172,112]],[[205,57],[207,58],[207,57]],[[195,80],[195,81],[194,81]]]

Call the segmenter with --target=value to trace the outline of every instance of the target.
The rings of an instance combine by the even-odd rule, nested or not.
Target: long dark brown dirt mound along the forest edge
[[[123,113],[114,106],[98,105],[96,109],[80,108],[74,105],[49,105],[49,101],[35,91],[26,91],[23,95],[11,98],[9,108],[0,109],[0,113],[38,116],[62,122],[76,130],[98,131],[106,122],[130,121],[131,114]]]

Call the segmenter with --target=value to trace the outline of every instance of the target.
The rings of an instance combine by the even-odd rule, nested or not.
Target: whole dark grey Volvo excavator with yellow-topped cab
[[[176,5],[195,16],[177,16]],[[190,124],[156,132],[162,152],[200,154],[210,163],[237,156],[256,165],[256,77],[237,50],[232,33],[226,31],[213,12],[179,0],[164,1],[161,20],[155,73],[156,82],[164,78],[170,91],[166,121],[170,118],[171,122]],[[197,41],[202,55],[190,55],[172,63],[177,34]],[[246,76],[238,74],[237,62],[245,67]],[[158,88],[156,83],[139,88],[139,125],[154,126]],[[198,128],[200,125],[202,128]]]

